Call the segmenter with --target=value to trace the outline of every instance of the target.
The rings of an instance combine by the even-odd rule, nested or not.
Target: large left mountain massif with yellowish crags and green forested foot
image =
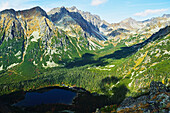
[[[87,51],[102,47],[98,40],[83,34],[83,30],[75,32],[72,28],[75,35],[72,36],[58,29],[40,7],[5,10],[0,17],[1,70],[23,63],[44,68],[63,66]]]

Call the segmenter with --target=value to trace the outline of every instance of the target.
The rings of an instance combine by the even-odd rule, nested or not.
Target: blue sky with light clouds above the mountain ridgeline
[[[141,21],[170,14],[170,0],[0,0],[0,11],[35,6],[47,12],[56,7],[76,6],[79,10],[99,15],[109,23],[117,23],[129,17]]]

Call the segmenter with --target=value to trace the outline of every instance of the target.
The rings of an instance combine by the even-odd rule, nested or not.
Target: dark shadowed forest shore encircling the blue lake
[[[25,99],[26,93],[30,92],[36,92],[36,93],[43,93],[47,92],[53,89],[62,89],[66,91],[71,91],[76,93],[76,96],[72,99],[71,105],[68,104],[62,104],[62,103],[54,103],[54,104],[41,104],[41,105],[36,105],[36,106],[31,106],[31,107],[15,107],[12,106],[13,104]],[[104,97],[104,99],[103,99]],[[90,99],[89,99],[90,98]],[[49,111],[50,109],[56,109],[57,111],[60,111],[60,108],[63,108],[62,110],[71,110],[71,111],[82,111],[86,110],[87,112],[89,111],[94,111],[95,108],[97,107],[102,107],[102,102],[101,104],[98,104],[99,99],[102,98],[103,100],[106,99],[105,96],[99,96],[96,95],[96,93],[90,93],[89,91],[79,88],[79,87],[59,87],[59,86],[50,86],[50,87],[44,87],[40,89],[34,89],[30,91],[18,91],[18,92],[13,92],[8,95],[3,95],[0,96],[0,107],[1,106],[7,106],[7,109],[14,109],[16,111],[22,111],[22,109],[29,111],[29,112],[34,112],[36,110],[44,110],[44,107],[47,108],[45,111]],[[52,107],[51,107],[52,106]],[[87,108],[85,107],[87,106]],[[2,108],[3,109],[3,108]]]

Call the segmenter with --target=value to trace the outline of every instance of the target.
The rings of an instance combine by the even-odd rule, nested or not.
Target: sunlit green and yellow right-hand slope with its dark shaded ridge
[[[124,58],[120,64],[117,64],[119,60],[109,64],[114,65],[114,68],[110,68],[110,71],[114,70],[113,75],[121,79],[116,83],[107,84],[105,87],[108,89],[105,91],[114,95],[115,88],[126,84],[130,90],[127,95],[136,96],[147,92],[153,80],[161,81],[169,86],[169,41],[170,26],[167,26],[142,43],[122,48],[111,55],[102,57],[101,59],[123,60]],[[104,68],[108,69],[106,67],[107,65]]]

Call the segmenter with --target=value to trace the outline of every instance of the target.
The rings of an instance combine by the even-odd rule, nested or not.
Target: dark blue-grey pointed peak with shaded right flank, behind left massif
[[[53,9],[48,14],[50,14],[51,20],[56,23],[58,27],[62,27],[68,32],[73,32],[71,31],[70,26],[73,28],[78,27],[82,32],[85,31],[85,36],[88,33],[89,36],[94,36],[99,40],[106,40],[106,38],[98,31],[98,28],[85,20],[78,12],[69,12],[65,7],[62,7]],[[63,23],[64,26],[62,26]]]

